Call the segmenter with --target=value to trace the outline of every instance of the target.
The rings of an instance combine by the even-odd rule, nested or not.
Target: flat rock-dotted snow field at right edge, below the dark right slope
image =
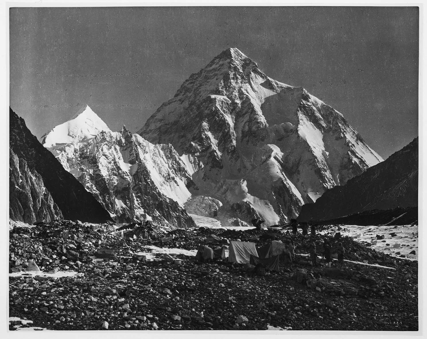
[[[321,234],[334,235],[341,232],[344,236],[353,237],[354,240],[361,243],[370,243],[371,248],[390,254],[395,257],[404,255],[407,259],[418,260],[418,226],[401,225],[401,226],[357,226],[344,225],[334,226]],[[395,233],[392,237],[390,234]],[[384,235],[384,239],[377,239],[377,235]],[[415,254],[409,254],[415,251]]]

